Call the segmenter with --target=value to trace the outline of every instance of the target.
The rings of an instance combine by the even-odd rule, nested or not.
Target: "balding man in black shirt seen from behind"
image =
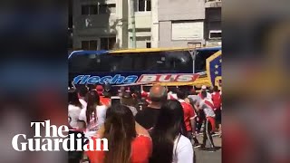
[[[136,121],[145,129],[154,127],[160,113],[161,105],[167,100],[166,88],[160,85],[152,86],[149,97],[151,103],[138,112],[135,117]]]

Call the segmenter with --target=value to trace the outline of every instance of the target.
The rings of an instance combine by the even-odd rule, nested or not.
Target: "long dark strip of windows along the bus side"
[[[83,54],[69,60],[70,72],[193,72],[188,51]]]

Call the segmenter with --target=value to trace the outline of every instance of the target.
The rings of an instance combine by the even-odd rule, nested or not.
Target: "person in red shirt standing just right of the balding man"
[[[198,146],[198,139],[196,138],[196,118],[197,114],[195,113],[193,107],[185,101],[186,94],[184,91],[177,90],[178,100],[183,108],[184,113],[184,123],[188,132],[188,138],[190,141],[193,139],[195,146]]]

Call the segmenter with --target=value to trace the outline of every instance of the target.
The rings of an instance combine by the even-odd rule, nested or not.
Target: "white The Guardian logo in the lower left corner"
[[[31,122],[31,127],[35,127],[33,139],[27,139],[25,134],[17,134],[12,139],[12,147],[17,151],[108,151],[108,139],[82,139],[82,134],[68,133],[67,126],[50,125],[50,120],[44,122]],[[45,136],[41,136],[41,126],[45,128]],[[52,132],[51,132],[52,129]],[[52,133],[52,134],[51,134]],[[84,142],[88,142],[83,145]],[[76,143],[76,144],[75,144]],[[102,147],[102,149],[101,149]]]

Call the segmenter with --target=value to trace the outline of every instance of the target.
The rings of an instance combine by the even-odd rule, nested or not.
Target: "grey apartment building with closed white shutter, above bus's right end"
[[[154,32],[158,46],[221,45],[220,11],[221,1],[159,0],[155,10],[159,27]]]

